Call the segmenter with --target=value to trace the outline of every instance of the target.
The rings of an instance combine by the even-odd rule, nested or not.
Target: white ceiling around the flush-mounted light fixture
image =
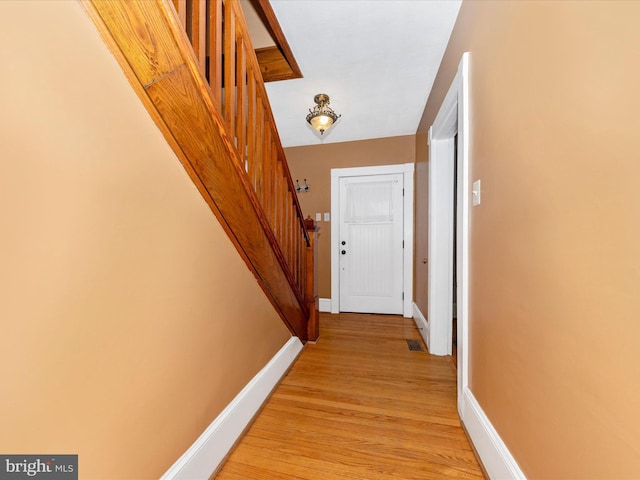
[[[284,147],[416,132],[461,0],[271,0],[304,78],[267,83]],[[326,93],[342,118],[305,121]]]

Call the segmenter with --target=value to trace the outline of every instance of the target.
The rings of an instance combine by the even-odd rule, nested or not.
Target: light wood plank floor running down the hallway
[[[218,480],[483,478],[450,360],[409,351],[413,320],[321,314]]]

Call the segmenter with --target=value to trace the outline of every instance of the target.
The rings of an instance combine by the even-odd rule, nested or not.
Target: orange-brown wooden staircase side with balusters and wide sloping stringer
[[[83,0],[289,329],[307,339],[310,239],[238,0]]]

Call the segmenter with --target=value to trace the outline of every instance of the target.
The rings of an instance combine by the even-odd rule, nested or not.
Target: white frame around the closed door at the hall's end
[[[331,313],[340,313],[340,178],[365,175],[404,175],[403,315],[413,316],[413,163],[331,169]]]

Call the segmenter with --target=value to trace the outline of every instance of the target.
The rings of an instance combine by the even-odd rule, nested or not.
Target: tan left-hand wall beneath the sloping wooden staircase
[[[81,5],[0,31],[0,451],[158,478],[290,335]]]

